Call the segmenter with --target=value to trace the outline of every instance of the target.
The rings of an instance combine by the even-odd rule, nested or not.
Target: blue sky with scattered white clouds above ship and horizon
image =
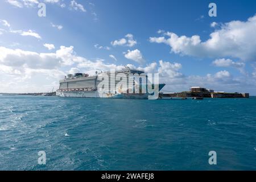
[[[159,73],[168,91],[255,95],[256,2],[214,1],[217,17],[210,2],[1,1],[0,92],[46,92],[67,73],[129,65]]]

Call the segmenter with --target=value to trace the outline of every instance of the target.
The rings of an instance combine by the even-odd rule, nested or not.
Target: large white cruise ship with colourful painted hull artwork
[[[125,67],[121,71],[67,75],[60,80],[56,96],[86,98],[138,98],[158,99],[165,84],[151,84],[143,71]]]

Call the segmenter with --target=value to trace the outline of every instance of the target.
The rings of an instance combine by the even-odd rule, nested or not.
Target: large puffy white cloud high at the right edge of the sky
[[[246,22],[239,20],[222,24],[220,30],[210,34],[210,39],[202,42],[200,36],[177,36],[167,32],[165,37],[150,38],[150,42],[164,43],[174,53],[196,57],[234,57],[256,61],[256,15]]]

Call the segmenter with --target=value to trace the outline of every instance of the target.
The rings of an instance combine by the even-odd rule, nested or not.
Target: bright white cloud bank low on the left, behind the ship
[[[136,67],[129,65],[131,68]],[[155,64],[148,65],[156,67]],[[67,70],[68,71],[63,71]],[[9,80],[0,87],[0,92],[47,92],[58,87],[59,79],[67,73],[89,73],[95,71],[109,71],[122,69],[123,65],[106,64],[104,60],[91,61],[85,57],[77,56],[73,47],[61,46],[55,53],[37,53],[0,47],[0,82]]]

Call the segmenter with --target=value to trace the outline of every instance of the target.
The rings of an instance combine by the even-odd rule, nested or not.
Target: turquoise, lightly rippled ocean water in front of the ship
[[[0,96],[0,169],[255,170],[256,97]]]

